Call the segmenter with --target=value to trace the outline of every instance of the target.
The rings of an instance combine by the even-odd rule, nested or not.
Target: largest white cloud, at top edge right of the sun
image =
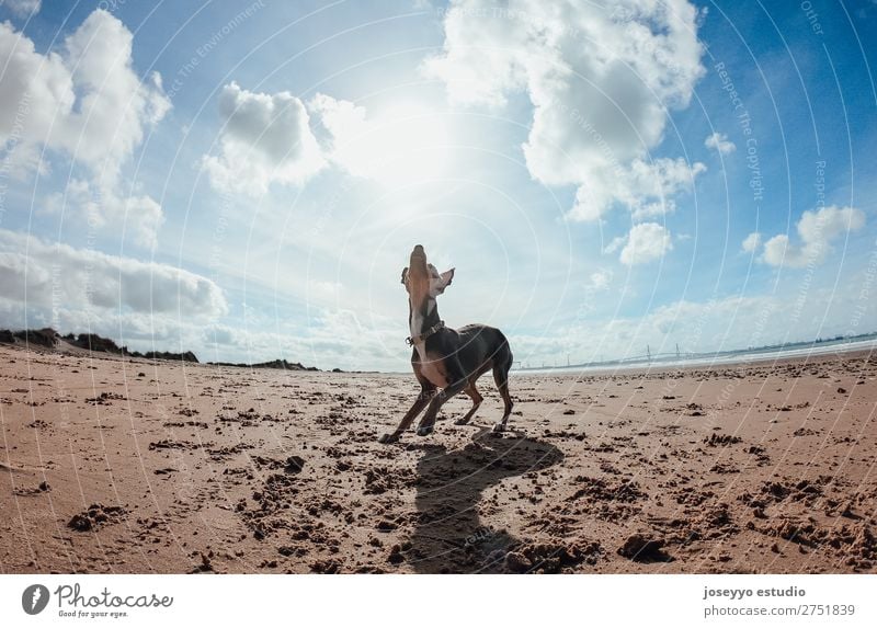
[[[667,107],[687,106],[704,75],[698,19],[685,0],[457,0],[444,52],[424,71],[445,82],[452,102],[501,107],[527,94],[527,168],[543,183],[579,186],[570,218],[596,219],[615,202],[654,216],[703,171],[694,164],[677,185],[684,161],[646,160],[663,138]]]

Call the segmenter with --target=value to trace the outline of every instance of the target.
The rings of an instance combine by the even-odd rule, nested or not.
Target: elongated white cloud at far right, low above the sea
[[[854,207],[830,206],[805,212],[797,225],[801,243],[791,243],[785,233],[774,236],[764,243],[761,261],[793,269],[821,264],[831,252],[833,240],[864,226],[865,213]]]

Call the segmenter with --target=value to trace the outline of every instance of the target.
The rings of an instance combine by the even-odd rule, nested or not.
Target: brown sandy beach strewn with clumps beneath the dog
[[[877,356],[480,384],[0,346],[0,571],[875,572]]]

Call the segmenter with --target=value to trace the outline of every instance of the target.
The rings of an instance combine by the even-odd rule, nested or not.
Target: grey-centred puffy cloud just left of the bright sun
[[[326,164],[307,109],[289,92],[251,92],[232,82],[223,88],[219,112],[219,155],[202,161],[217,190],[264,194],[272,183],[300,184]]]

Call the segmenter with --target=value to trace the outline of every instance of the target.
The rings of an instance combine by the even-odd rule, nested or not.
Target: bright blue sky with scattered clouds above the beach
[[[0,3],[0,328],[406,370],[877,330],[877,3]]]

